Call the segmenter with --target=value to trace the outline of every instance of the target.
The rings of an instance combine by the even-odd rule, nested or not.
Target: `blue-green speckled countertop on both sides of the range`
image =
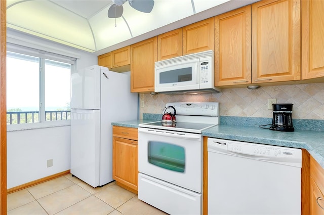
[[[111,124],[137,128],[140,123],[153,121],[158,120],[139,119],[112,122]],[[277,132],[257,126],[216,125],[203,131],[202,135],[227,140],[306,149],[324,168],[324,132],[322,131],[295,130],[295,132]]]

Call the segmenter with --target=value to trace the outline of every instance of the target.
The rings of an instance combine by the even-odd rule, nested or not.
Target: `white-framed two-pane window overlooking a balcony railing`
[[[74,61],[53,56],[7,51],[7,125],[28,128],[44,123],[66,124],[70,119]]]

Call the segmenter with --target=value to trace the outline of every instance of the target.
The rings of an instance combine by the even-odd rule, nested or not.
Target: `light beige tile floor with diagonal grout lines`
[[[93,188],[71,174],[8,194],[11,214],[167,214],[111,182]]]

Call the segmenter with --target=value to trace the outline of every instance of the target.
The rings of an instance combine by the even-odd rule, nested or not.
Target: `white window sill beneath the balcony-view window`
[[[8,124],[7,132],[25,131],[42,129],[49,127],[60,127],[60,126],[70,126],[71,120],[58,120],[58,121],[46,121],[46,122],[36,122],[27,124]]]

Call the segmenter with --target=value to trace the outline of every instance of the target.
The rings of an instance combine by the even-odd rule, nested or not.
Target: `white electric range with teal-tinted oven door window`
[[[200,214],[201,132],[219,124],[217,102],[175,102],[175,123],[139,124],[138,198],[170,214]]]

